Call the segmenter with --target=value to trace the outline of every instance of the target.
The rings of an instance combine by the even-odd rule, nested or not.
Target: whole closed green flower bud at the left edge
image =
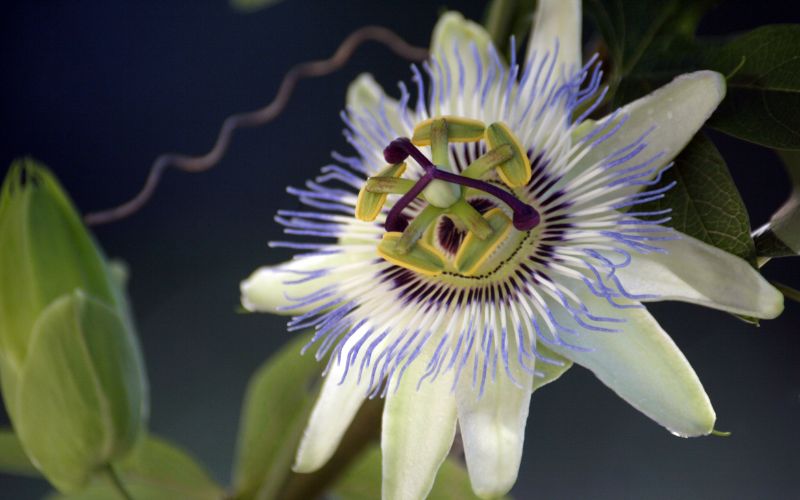
[[[0,381],[31,461],[86,484],[144,428],[147,383],[122,286],[52,174],[12,164],[0,192]]]

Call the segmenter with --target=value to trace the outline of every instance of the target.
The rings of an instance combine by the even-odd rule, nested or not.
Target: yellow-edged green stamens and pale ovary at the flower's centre
[[[480,141],[488,151],[454,173],[451,143]],[[418,149],[422,146],[430,146],[430,159]],[[387,232],[378,245],[378,254],[393,264],[426,275],[480,275],[503,262],[540,222],[537,210],[514,194],[530,180],[531,165],[501,122],[485,126],[461,117],[431,118],[417,124],[411,139],[393,140],[383,155],[389,165],[361,188],[356,217],[375,220],[389,194],[401,195],[386,216]],[[422,168],[416,179],[403,177],[408,157]],[[476,200],[495,208],[479,211]],[[443,230],[450,234],[442,235]],[[437,248],[436,241],[448,245]]]

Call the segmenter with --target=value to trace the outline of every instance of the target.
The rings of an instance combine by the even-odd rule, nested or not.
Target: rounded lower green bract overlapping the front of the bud
[[[80,290],[39,316],[14,395],[25,451],[60,491],[83,487],[130,450],[147,415],[136,339],[119,314]]]

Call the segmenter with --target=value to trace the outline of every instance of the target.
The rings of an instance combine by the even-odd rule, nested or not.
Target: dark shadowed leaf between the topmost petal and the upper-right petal
[[[657,85],[653,78],[631,77],[654,62],[663,64],[674,45],[694,37],[702,16],[718,0],[585,0],[586,12],[599,29],[610,61],[609,84],[613,108],[641,97]],[[648,69],[652,71],[652,68]],[[667,71],[656,80],[664,83],[682,71]],[[618,88],[619,86],[619,88]]]

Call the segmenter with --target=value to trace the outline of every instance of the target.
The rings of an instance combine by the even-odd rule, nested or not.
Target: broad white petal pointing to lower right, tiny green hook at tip
[[[581,352],[549,346],[590,369],[604,384],[648,417],[678,436],[710,433],[716,415],[689,362],[646,309],[619,310],[588,291],[579,294],[592,314],[625,318],[613,323],[618,332],[579,330],[579,337],[564,335]],[[559,322],[570,325],[563,308],[554,307]]]

